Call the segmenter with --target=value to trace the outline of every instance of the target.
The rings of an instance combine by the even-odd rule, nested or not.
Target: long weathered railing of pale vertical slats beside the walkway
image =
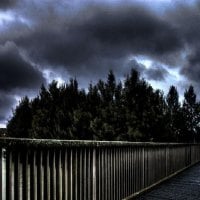
[[[199,161],[200,144],[2,138],[0,200],[128,200]]]

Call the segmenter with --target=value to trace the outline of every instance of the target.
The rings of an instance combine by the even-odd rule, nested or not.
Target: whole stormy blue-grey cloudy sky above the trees
[[[153,87],[200,91],[200,1],[1,0],[0,126],[41,84],[80,87],[136,68]]]

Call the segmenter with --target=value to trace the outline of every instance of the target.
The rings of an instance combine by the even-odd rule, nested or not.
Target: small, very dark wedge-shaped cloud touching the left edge
[[[0,90],[34,89],[42,83],[42,73],[20,55],[14,43],[0,46]]]

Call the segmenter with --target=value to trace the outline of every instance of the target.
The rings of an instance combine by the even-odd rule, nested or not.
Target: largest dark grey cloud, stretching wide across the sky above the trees
[[[34,62],[43,66],[79,71],[97,57],[115,60],[146,54],[159,59],[182,47],[174,27],[142,7],[94,6],[75,16],[55,18],[59,22],[51,17],[49,21],[41,19],[29,31],[25,28],[24,34],[13,37]],[[93,63],[87,69],[95,67]]]

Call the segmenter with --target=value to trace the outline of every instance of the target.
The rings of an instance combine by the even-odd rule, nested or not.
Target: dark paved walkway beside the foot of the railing
[[[200,200],[200,164],[178,174],[137,200]]]

